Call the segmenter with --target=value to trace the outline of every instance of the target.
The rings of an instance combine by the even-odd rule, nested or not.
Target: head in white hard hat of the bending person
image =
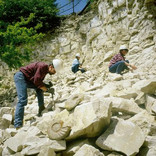
[[[49,64],[49,74],[53,75],[60,72],[63,69],[63,62],[59,59],[54,59],[51,64]]]

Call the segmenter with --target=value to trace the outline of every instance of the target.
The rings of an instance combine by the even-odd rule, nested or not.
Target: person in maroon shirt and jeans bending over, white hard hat
[[[62,61],[54,59],[51,64],[44,62],[31,63],[25,67],[21,67],[20,71],[14,75],[14,81],[16,85],[18,103],[15,111],[15,128],[20,128],[23,125],[24,106],[27,105],[27,88],[33,88],[36,90],[38,98],[39,113],[45,109],[43,92],[48,91],[46,84],[43,80],[46,74],[53,75],[62,69]]]

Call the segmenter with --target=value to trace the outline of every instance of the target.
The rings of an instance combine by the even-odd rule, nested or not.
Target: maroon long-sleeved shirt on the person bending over
[[[37,88],[43,87],[43,80],[49,72],[49,66],[43,62],[31,63],[21,67],[20,71],[24,74],[27,81],[32,82]]]

